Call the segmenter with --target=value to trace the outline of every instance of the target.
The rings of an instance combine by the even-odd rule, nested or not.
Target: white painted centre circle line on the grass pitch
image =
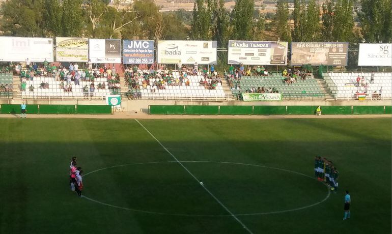
[[[297,172],[297,171],[292,171],[292,170],[287,170],[287,169],[282,169],[282,168],[277,168],[277,167],[270,167],[270,166],[262,166],[262,165],[257,165],[257,164],[248,164],[248,163],[237,163],[237,162],[219,162],[219,161],[179,161],[181,163],[221,163],[221,164],[234,164],[234,165],[243,165],[243,166],[254,166],[254,167],[263,167],[263,168],[268,168],[268,169],[274,169],[274,170],[281,170],[281,171],[286,171],[289,173],[294,173],[294,174],[298,174],[300,176],[304,176],[310,179],[313,179],[315,181],[317,181],[315,178],[308,176],[306,174]],[[97,171],[101,171],[101,170],[106,170],[106,169],[110,169],[110,168],[116,168],[116,167],[124,167],[124,166],[132,166],[132,165],[143,165],[143,164],[157,164],[157,163],[178,163],[177,161],[161,161],[161,162],[143,162],[143,163],[129,163],[129,164],[121,164],[121,165],[116,165],[116,166],[109,166],[109,167],[104,167],[104,168],[100,168],[97,170],[93,170],[90,171],[88,173],[86,173],[83,177],[88,176],[89,174],[95,173]],[[320,181],[317,181],[318,183],[322,183]],[[289,209],[289,210],[282,210],[282,211],[272,211],[272,212],[260,212],[260,213],[248,213],[248,214],[234,214],[235,216],[252,216],[252,215],[270,215],[270,214],[279,214],[279,213],[286,213],[286,212],[292,212],[292,211],[299,211],[299,210],[303,210],[303,209],[307,209],[307,208],[311,208],[314,206],[317,206],[318,204],[326,201],[330,194],[331,191],[329,190],[328,186],[324,183],[322,183],[326,188],[327,188],[327,195],[324,197],[324,199],[315,202],[313,204],[310,204],[308,206],[304,206],[304,207],[299,207],[299,208],[295,208],[295,209]],[[87,196],[82,196],[83,198],[86,198],[87,200],[102,204],[104,206],[108,206],[108,207],[113,207],[113,208],[118,208],[121,210],[127,210],[127,211],[134,211],[134,212],[141,212],[141,213],[147,213],[147,214],[155,214],[155,215],[172,215],[172,216],[190,216],[190,217],[227,217],[227,216],[232,216],[232,215],[197,215],[197,214],[176,214],[176,213],[163,213],[163,212],[153,212],[153,211],[144,211],[144,210],[138,210],[138,209],[132,209],[132,208],[126,208],[126,207],[120,207],[120,206],[115,206],[113,204],[108,204],[99,200],[95,200],[93,198],[87,197]]]

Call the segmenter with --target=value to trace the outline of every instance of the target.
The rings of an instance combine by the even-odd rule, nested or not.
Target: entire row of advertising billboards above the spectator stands
[[[154,64],[152,40],[56,38],[58,62]],[[53,62],[52,38],[0,37],[0,61]],[[229,41],[228,64],[287,65],[288,42]],[[122,52],[122,54],[121,54]],[[160,40],[157,62],[162,64],[216,64],[216,41]],[[348,43],[291,44],[291,65],[347,66]],[[359,44],[358,66],[391,66],[392,44]]]

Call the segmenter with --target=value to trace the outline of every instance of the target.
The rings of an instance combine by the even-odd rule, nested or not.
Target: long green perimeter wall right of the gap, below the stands
[[[150,106],[150,114],[316,114],[317,106]],[[185,110],[185,111],[184,111]],[[391,106],[321,106],[322,114],[392,114]]]

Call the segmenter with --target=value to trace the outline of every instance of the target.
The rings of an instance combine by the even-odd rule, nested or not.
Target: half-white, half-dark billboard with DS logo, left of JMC
[[[121,40],[90,39],[89,56],[91,63],[121,64]]]

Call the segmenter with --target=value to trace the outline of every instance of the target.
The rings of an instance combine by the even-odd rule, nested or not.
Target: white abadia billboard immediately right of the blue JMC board
[[[217,41],[158,41],[159,64],[216,64]]]

